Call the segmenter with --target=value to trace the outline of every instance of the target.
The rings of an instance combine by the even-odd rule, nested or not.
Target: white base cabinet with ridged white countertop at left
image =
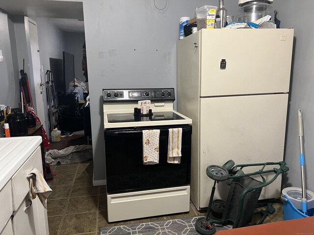
[[[5,209],[0,213],[0,235],[49,235],[47,210],[38,197],[30,198],[26,178],[33,168],[43,173],[41,141],[41,137],[0,140],[0,199],[5,197],[0,200]]]

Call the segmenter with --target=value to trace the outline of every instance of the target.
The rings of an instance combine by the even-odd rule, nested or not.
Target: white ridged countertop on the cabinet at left
[[[0,190],[41,142],[40,136],[0,138]]]

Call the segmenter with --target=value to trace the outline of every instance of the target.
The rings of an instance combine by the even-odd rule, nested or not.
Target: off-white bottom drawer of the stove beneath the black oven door
[[[108,222],[186,212],[189,207],[189,186],[107,194]]]

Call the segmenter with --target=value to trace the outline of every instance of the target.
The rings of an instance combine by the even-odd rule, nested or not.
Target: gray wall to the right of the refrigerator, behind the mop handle
[[[285,187],[301,187],[298,109],[303,111],[305,138],[306,188],[314,191],[314,30],[310,16],[313,0],[275,0],[281,27],[294,27],[294,63],[291,83],[288,134],[285,160],[290,168],[284,177]]]

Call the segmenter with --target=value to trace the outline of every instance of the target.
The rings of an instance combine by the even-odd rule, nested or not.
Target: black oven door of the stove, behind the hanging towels
[[[182,128],[181,164],[167,163],[168,128]],[[143,164],[142,130],[159,129],[159,164]],[[107,193],[184,186],[190,183],[191,125],[105,130]]]

